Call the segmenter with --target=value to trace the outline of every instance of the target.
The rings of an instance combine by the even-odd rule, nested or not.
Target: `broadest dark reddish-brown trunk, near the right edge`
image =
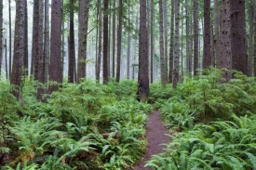
[[[232,69],[248,75],[245,1],[230,1]]]

